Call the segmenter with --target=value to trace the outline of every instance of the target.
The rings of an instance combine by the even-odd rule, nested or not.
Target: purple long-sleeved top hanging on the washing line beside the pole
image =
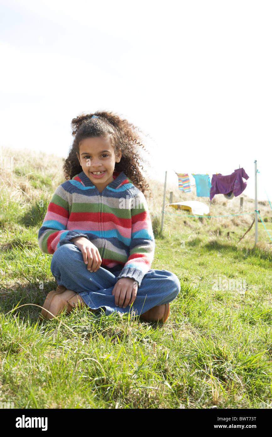
[[[244,171],[243,167],[234,170],[233,173],[224,176],[224,174],[218,173],[213,174],[212,186],[210,188],[210,200],[215,196],[215,194],[228,194],[233,191],[234,196],[239,196],[247,183],[243,181],[248,179],[249,176]]]

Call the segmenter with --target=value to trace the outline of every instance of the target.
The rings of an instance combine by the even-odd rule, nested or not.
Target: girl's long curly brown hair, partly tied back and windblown
[[[92,118],[93,115],[98,118]],[[149,185],[139,170],[139,167],[143,169],[143,166],[140,165],[140,161],[143,162],[143,159],[139,148],[146,149],[136,132],[138,128],[127,120],[121,119],[117,114],[107,111],[80,114],[72,119],[71,125],[72,135],[75,138],[70,147],[68,158],[62,167],[65,180],[72,179],[82,171],[76,156],[76,152],[79,153],[80,141],[85,138],[103,136],[104,138],[110,138],[115,153],[121,148],[121,160],[119,163],[115,163],[115,171],[123,171],[143,194],[145,194],[145,191],[149,191],[151,195]]]

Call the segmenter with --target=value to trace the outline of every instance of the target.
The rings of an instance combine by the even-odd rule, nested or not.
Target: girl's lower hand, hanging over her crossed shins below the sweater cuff
[[[114,285],[112,294],[115,296],[115,306],[126,308],[136,299],[138,282],[131,277],[121,277]]]

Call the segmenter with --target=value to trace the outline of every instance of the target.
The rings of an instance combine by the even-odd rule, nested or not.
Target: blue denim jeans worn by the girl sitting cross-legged
[[[112,290],[118,281],[122,266],[99,267],[96,272],[87,270],[81,250],[75,244],[63,244],[53,253],[50,270],[59,285],[79,293],[91,309],[102,308],[106,315],[119,311],[135,312],[139,316],[157,305],[171,302],[180,291],[178,277],[167,270],[149,270],[138,288],[131,307],[115,306]]]

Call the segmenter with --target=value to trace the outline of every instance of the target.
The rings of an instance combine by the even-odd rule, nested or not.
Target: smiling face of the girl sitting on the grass
[[[115,155],[110,138],[85,138],[79,142],[79,153],[76,156],[86,176],[101,193],[114,180],[114,166],[121,160],[121,149]]]

